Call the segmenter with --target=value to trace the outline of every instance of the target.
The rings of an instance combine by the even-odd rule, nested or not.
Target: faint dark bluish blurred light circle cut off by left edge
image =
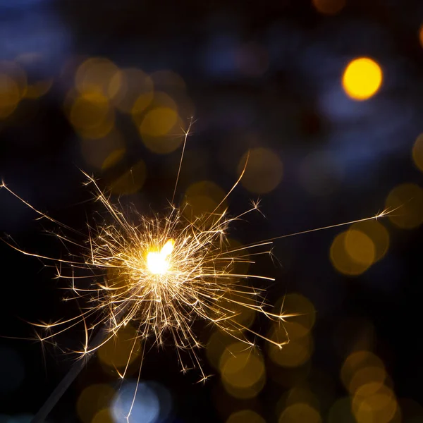
[[[25,376],[23,362],[16,351],[0,348],[0,395],[16,391]]]

